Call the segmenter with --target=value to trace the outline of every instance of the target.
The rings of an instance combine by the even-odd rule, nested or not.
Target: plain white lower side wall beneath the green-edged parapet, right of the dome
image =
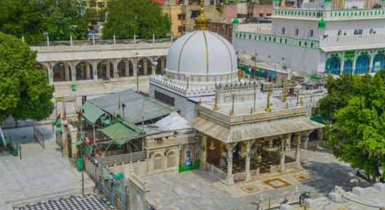
[[[257,49],[258,60],[267,63],[284,63],[296,72],[313,74],[323,71],[321,50],[316,48],[304,48],[299,46],[281,45],[264,41],[243,40],[234,38],[234,47],[242,53],[254,53]]]

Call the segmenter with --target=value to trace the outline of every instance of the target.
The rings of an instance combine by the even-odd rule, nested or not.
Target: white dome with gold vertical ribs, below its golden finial
[[[167,54],[166,71],[186,75],[220,75],[237,71],[233,45],[211,31],[192,31],[177,39]]]

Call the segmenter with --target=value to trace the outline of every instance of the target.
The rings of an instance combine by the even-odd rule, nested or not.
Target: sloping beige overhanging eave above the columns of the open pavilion
[[[224,143],[239,142],[263,137],[278,136],[283,134],[311,131],[323,127],[315,121],[306,117],[296,119],[280,119],[276,121],[265,121],[244,126],[224,127],[202,117],[197,117],[190,123],[194,129]]]

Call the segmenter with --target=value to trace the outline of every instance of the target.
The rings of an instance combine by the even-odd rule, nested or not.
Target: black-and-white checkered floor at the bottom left
[[[18,210],[108,210],[110,208],[105,200],[96,195],[71,196],[58,200],[49,200],[25,207]]]

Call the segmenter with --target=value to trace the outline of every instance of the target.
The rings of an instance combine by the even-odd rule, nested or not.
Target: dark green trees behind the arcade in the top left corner
[[[82,2],[77,0],[2,0],[0,32],[24,36],[28,43],[87,38],[87,22],[82,16]]]

